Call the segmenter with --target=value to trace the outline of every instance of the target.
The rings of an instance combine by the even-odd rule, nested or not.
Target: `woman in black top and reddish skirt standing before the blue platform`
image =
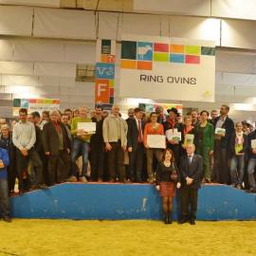
[[[174,160],[174,152],[166,149],[162,160],[158,163],[155,175],[156,190],[162,197],[164,223],[173,222],[173,198],[175,187],[180,188],[180,176]]]

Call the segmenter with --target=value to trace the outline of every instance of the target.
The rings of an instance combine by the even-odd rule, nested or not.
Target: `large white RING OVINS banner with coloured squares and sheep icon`
[[[214,101],[214,88],[213,42],[122,37],[120,97]]]

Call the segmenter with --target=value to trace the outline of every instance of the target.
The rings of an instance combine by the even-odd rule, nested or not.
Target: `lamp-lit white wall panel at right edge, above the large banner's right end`
[[[221,46],[256,49],[256,22],[222,20]]]

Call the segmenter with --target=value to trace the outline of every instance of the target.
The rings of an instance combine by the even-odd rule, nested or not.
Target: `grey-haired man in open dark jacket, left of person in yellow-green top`
[[[59,119],[59,112],[52,111],[50,121],[44,125],[42,135],[45,154],[48,156],[48,182],[50,186],[65,181],[70,173],[70,140],[64,124]]]

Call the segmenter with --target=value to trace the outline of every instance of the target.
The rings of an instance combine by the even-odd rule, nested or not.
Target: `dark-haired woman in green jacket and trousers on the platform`
[[[200,121],[194,127],[195,152],[203,156],[204,176],[203,182],[210,182],[210,155],[213,154],[214,127],[208,121],[209,112],[201,111]]]

